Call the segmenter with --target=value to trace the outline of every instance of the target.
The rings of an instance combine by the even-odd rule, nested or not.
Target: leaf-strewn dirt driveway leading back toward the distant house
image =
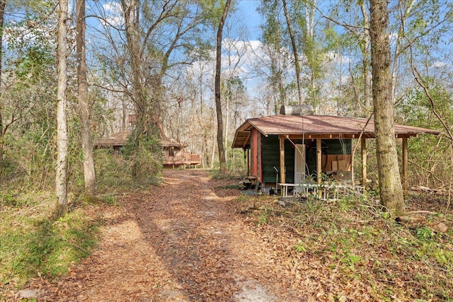
[[[240,213],[238,190],[197,170],[164,177],[106,212],[98,249],[41,284],[38,301],[304,301],[290,265]]]

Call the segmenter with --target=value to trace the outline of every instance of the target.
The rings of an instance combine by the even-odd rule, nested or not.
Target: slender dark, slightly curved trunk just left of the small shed
[[[216,45],[216,69],[215,69],[215,108],[217,111],[217,146],[219,149],[219,163],[220,163],[220,174],[226,174],[226,158],[225,148],[223,139],[223,120],[222,120],[222,102],[220,99],[220,74],[222,71],[222,36],[224,30],[224,23],[226,15],[229,11],[231,0],[226,0],[224,12],[222,18],[220,18],[219,29],[217,30],[217,45]]]

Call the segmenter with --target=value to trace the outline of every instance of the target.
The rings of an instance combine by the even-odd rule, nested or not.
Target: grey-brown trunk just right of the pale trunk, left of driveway
[[[76,59],[79,93],[79,114],[81,123],[81,143],[84,155],[85,194],[96,197],[96,174],[94,171],[93,146],[90,132],[90,108],[88,105],[88,83],[86,79],[85,48],[85,0],[76,0]]]

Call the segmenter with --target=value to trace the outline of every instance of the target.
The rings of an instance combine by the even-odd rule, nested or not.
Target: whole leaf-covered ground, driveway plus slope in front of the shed
[[[275,198],[241,194],[237,182],[200,170],[165,170],[160,186],[124,194],[115,206],[93,208],[103,211],[98,247],[65,276],[32,279],[16,300],[30,292],[38,301],[453,297],[453,252],[432,264],[432,257],[414,254],[413,246],[435,250],[434,245],[401,239],[399,231],[386,238],[383,234],[393,231],[368,206],[369,216],[361,212],[359,219],[345,202],[307,203],[296,211],[299,206],[281,207]],[[430,223],[435,230],[439,221]],[[450,227],[445,220],[444,225]]]

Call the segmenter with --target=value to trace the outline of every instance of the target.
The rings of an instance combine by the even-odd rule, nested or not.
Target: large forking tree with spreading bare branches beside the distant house
[[[161,123],[166,91],[164,79],[169,69],[181,63],[172,61],[173,53],[193,47],[197,40],[192,34],[206,18],[203,16],[206,11],[201,7],[206,2],[121,1],[128,52],[125,57],[130,58],[125,62],[130,65],[131,73],[126,81],[132,82],[127,83],[125,89],[137,111],[136,134],[165,138]]]

